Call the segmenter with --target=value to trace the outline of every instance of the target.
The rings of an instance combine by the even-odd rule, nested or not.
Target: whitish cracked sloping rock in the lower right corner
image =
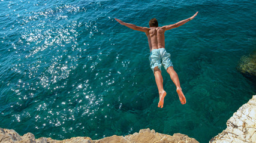
[[[256,142],[256,95],[228,119],[227,129],[210,140],[210,143],[220,142]]]

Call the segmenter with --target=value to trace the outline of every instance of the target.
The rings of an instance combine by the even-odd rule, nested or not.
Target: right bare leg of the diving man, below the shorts
[[[182,92],[182,89],[180,88],[179,77],[176,71],[174,71],[173,67],[171,66],[171,67],[168,67],[167,73],[170,74],[171,80],[173,80],[173,83],[176,85],[176,88],[177,88],[176,91],[177,91],[177,94],[179,95],[179,100],[181,104],[185,104],[186,98]]]

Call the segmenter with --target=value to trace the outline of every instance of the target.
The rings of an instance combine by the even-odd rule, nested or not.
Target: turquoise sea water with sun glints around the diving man
[[[158,108],[146,35],[114,18],[148,26],[155,17],[164,26],[197,11],[165,32],[187,103],[163,70],[167,96]],[[0,128],[53,139],[150,128],[209,142],[256,93],[236,69],[256,50],[255,14],[249,0],[1,0]]]

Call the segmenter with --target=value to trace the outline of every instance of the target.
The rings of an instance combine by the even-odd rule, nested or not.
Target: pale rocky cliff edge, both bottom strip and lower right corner
[[[74,137],[71,139],[64,139],[62,141],[52,138],[38,138],[32,133],[26,133],[20,136],[15,130],[0,128],[0,142],[8,143],[101,143],[101,142],[147,142],[147,143],[198,143],[194,138],[189,138],[187,135],[180,133],[174,133],[173,136],[157,133],[155,130],[141,129],[140,132],[135,132],[132,135],[127,136],[110,136],[103,139],[92,140],[89,137]],[[237,110],[233,116],[227,121],[227,129],[223,130],[217,136],[210,140],[210,143],[256,143],[256,95],[252,97],[246,104]]]

